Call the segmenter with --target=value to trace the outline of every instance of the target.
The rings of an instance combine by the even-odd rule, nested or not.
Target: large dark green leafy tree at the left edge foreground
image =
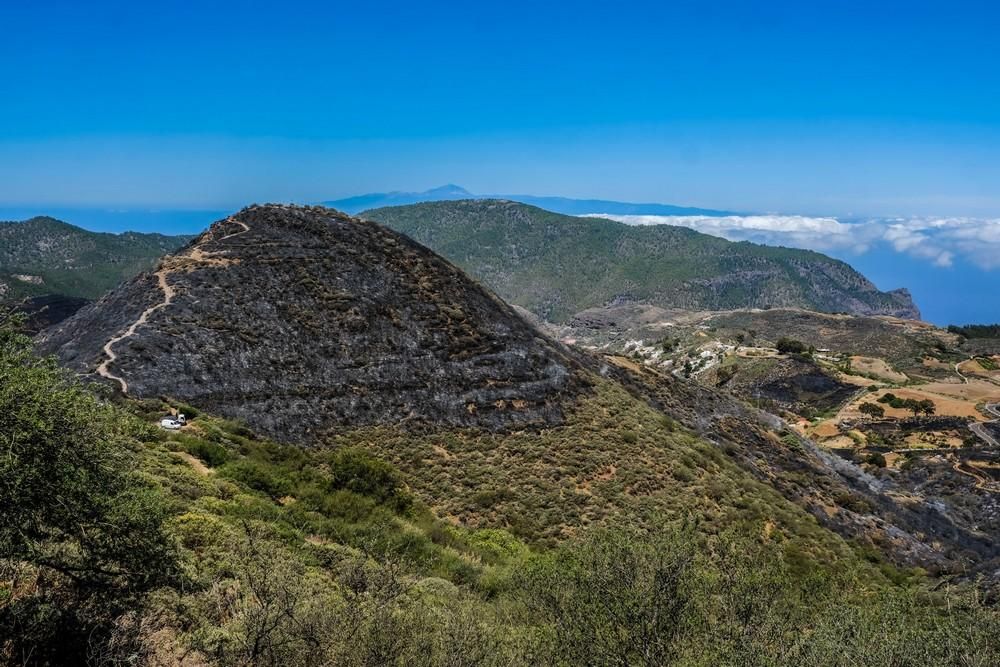
[[[159,494],[132,472],[146,427],[16,326],[0,322],[0,582],[15,582],[0,584],[0,656],[65,664],[172,578],[174,551]]]

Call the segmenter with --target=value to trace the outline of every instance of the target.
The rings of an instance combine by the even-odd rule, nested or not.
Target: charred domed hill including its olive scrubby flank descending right
[[[559,344],[431,250],[328,209],[243,209],[36,347],[131,398],[170,397],[307,448],[362,447],[436,511],[532,541],[651,511],[702,508],[726,525],[752,513],[744,489],[831,558],[848,553],[843,537],[943,569],[961,548],[993,555],[947,516],[835,472],[780,420]],[[855,496],[884,516],[823,510]],[[834,532],[812,534],[813,521]],[[946,547],[931,544],[940,535]]]

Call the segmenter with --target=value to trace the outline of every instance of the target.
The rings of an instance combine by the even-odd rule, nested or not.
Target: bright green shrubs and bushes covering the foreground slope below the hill
[[[752,512],[707,533],[677,512],[622,516],[529,546],[441,520],[357,446],[281,446],[159,399],[112,405],[10,329],[0,373],[4,663],[985,666],[1000,655],[997,614],[974,597],[891,583],[842,547],[793,558],[809,538]],[[150,425],[170,407],[193,417],[181,433]],[[681,446],[692,470],[730,474]]]

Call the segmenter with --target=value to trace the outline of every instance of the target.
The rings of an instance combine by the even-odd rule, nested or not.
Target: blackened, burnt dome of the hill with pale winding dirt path
[[[447,261],[318,207],[216,222],[39,347],[130,395],[298,442],[364,424],[558,423],[585,383],[558,344]]]

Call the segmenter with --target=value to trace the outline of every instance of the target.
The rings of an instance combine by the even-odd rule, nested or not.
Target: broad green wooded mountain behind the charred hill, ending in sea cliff
[[[880,292],[844,262],[684,227],[632,227],[502,200],[396,206],[361,217],[411,236],[553,322],[620,302],[919,317],[905,290]]]

